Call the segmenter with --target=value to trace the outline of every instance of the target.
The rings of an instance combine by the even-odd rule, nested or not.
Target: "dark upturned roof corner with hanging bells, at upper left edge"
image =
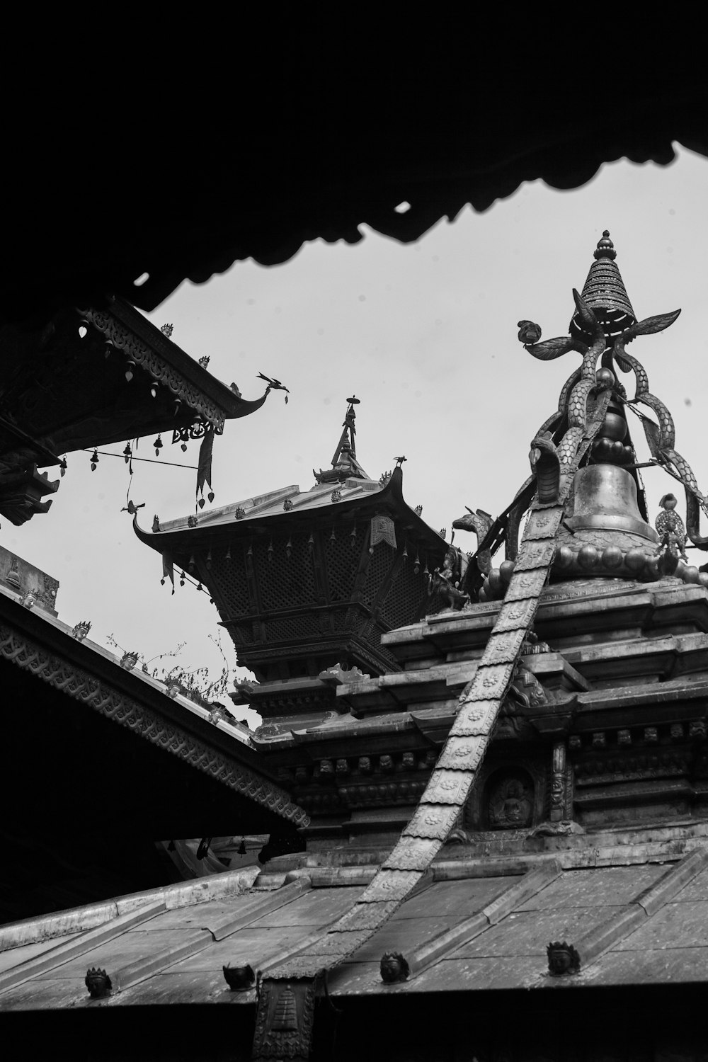
[[[56,491],[38,468],[63,453],[143,435],[196,439],[265,401],[246,401],[133,306],[64,307],[44,327],[0,330],[0,513],[19,525]],[[175,436],[177,432],[177,436]]]

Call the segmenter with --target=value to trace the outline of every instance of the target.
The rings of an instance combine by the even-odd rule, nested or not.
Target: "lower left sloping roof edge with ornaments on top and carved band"
[[[294,825],[307,822],[306,812],[262,765],[243,727],[213,721],[207,709],[180,695],[168,696],[162,683],[140,669],[125,669],[111,653],[73,637],[62,620],[28,609],[3,586],[0,656],[274,816]]]

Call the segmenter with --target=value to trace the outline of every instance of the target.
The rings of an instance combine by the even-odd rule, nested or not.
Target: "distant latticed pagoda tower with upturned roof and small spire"
[[[425,614],[429,573],[447,550],[403,500],[400,463],[378,480],[366,475],[359,399],[347,402],[331,468],[315,472],[309,491],[284,486],[152,533],[135,525],[166,570],[208,587],[239,664],[258,680],[235,699],[261,714],[263,735],[278,732],[278,719],[328,718],[344,674],[400,670],[381,637]]]

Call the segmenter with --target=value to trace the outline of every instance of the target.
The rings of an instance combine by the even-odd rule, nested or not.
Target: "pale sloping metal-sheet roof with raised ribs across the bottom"
[[[496,860],[446,846],[421,888],[330,971],[330,996],[346,1015],[357,998],[422,1003],[432,994],[443,1006],[445,994],[473,992],[480,1012],[503,990],[530,992],[540,1008],[546,993],[565,989],[581,993],[587,1007],[599,989],[705,984],[706,824],[694,823],[680,841],[669,825],[651,839],[624,829],[580,840],[557,838],[543,853]],[[222,967],[248,963],[267,976],[324,933],[376,871],[315,857],[289,873],[273,869],[288,859],[0,928],[0,1010],[90,1007],[84,977],[101,967],[113,986],[103,1001],[108,1010],[231,1004],[247,1010],[253,1030],[255,988],[229,991]],[[574,947],[574,976],[549,973],[549,941]],[[392,952],[410,973],[386,984],[380,961]]]

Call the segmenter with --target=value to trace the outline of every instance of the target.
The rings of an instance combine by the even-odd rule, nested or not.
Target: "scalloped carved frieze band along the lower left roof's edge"
[[[0,627],[0,655],[283,819],[298,826],[308,824],[307,812],[293,804],[288,793],[278,786],[258,777],[245,767],[235,766],[225,756],[179,726],[166,722],[132,697],[111,689],[100,679],[53,656],[6,627]]]

